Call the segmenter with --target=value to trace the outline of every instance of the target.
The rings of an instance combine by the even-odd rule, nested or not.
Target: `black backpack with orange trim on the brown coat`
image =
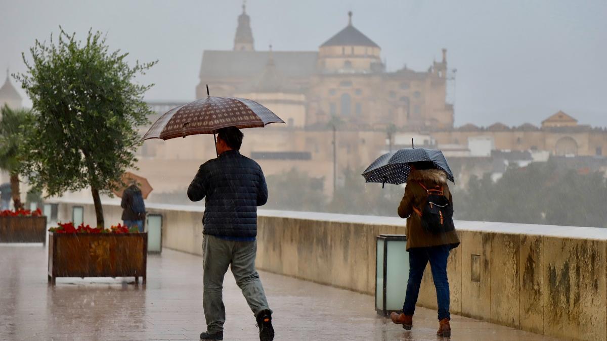
[[[421,226],[432,234],[439,234],[455,230],[453,225],[453,205],[449,198],[445,197],[443,187],[436,186],[427,189],[423,183],[419,186],[426,190],[428,195],[426,206],[421,210],[413,207],[413,211],[419,215]]]

